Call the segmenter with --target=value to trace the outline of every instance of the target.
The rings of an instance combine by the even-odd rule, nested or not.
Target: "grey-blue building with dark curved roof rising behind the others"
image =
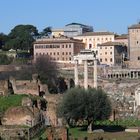
[[[70,23],[64,27],[64,35],[67,37],[75,37],[86,32],[93,32],[93,27],[80,23]]]

